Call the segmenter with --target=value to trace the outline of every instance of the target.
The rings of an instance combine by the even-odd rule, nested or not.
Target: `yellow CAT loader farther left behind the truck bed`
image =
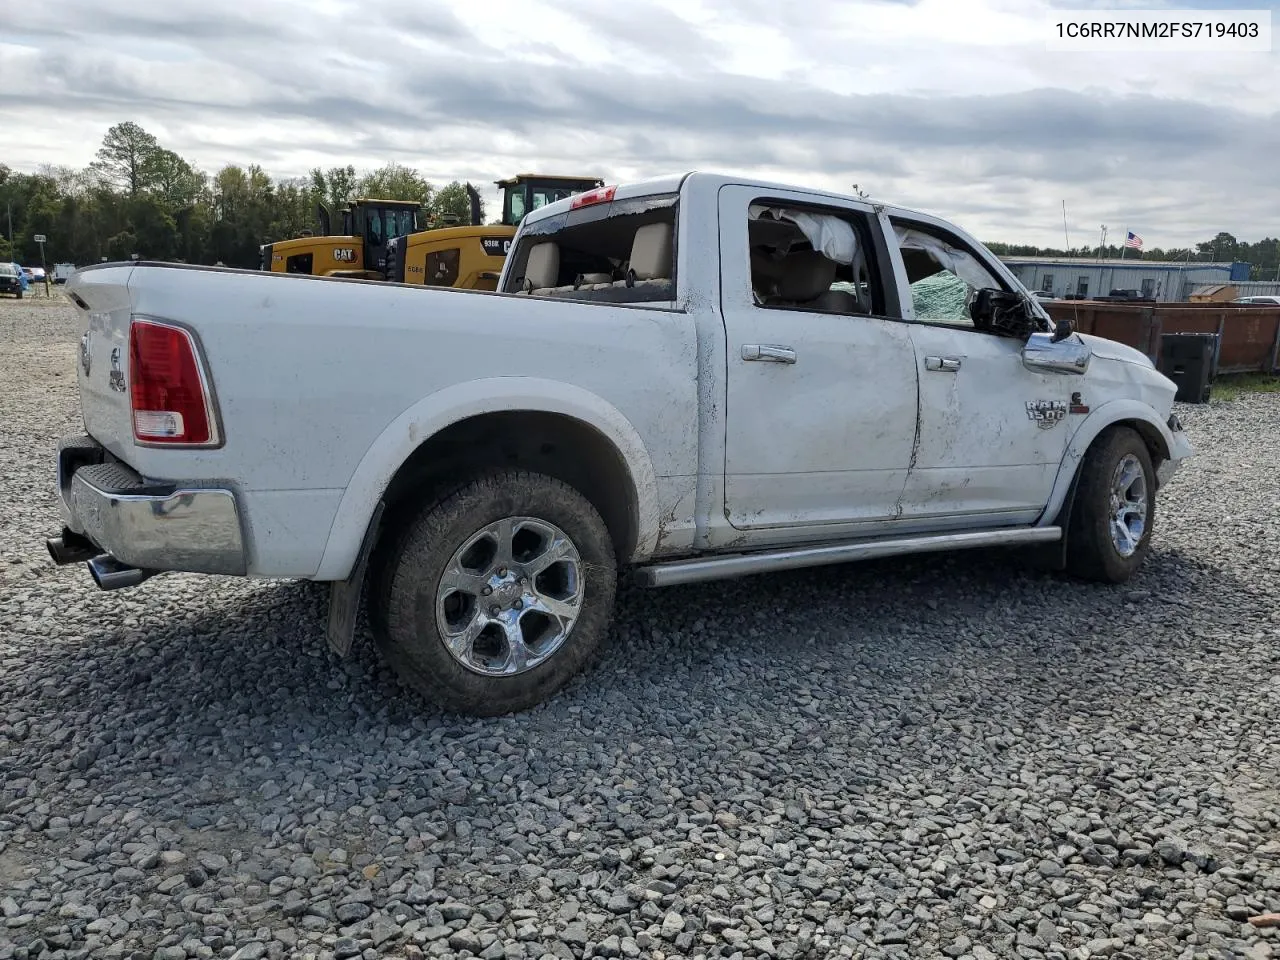
[[[320,236],[310,232],[261,247],[259,269],[316,276],[387,276],[387,242],[421,228],[422,205],[413,200],[361,197],[342,210],[342,233],[332,233],[329,207],[317,204]]]

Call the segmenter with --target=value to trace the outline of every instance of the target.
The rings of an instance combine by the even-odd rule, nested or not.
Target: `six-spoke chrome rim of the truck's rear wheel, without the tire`
[[[472,534],[435,591],[435,623],[453,658],[486,677],[553,655],[582,608],[582,558],[554,524],[507,517]]]

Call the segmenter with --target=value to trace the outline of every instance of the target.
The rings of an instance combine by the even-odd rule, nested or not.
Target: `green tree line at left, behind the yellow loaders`
[[[256,268],[260,244],[319,229],[319,202],[337,214],[360,196],[416,200],[429,223],[471,216],[463,183],[436,187],[401,164],[362,174],[351,165],[316,168],[293,179],[273,179],[256,164],[228,164],[210,175],[125,122],[106,132],[83,169],[46,165],[23,174],[0,163],[0,261],[40,264],[35,237],[42,234],[47,264],[137,255]]]

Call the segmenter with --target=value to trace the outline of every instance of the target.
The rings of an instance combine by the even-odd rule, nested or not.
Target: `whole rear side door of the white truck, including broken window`
[[[813,214],[819,219],[800,219],[851,234],[863,260],[823,262],[795,221],[750,218],[749,209],[762,207]],[[870,209],[815,207],[805,195],[728,186],[719,218],[726,516],[748,531],[735,536],[764,543],[810,526],[823,538],[873,532],[899,512],[916,375],[909,325],[877,315],[876,307],[887,311],[869,250]],[[801,265],[808,275],[786,273]]]

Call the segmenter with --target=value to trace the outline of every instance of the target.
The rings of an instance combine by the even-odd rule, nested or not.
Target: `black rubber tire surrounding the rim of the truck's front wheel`
[[[1116,468],[1130,456],[1142,467],[1147,512],[1137,548],[1125,556],[1111,535],[1111,488]],[[1142,499],[1140,495],[1138,499]],[[1142,566],[1151,550],[1155,526],[1156,471],[1151,462],[1151,452],[1132,428],[1111,428],[1093,442],[1080,466],[1080,479],[1068,530],[1068,572],[1083,580],[1125,582]]]

